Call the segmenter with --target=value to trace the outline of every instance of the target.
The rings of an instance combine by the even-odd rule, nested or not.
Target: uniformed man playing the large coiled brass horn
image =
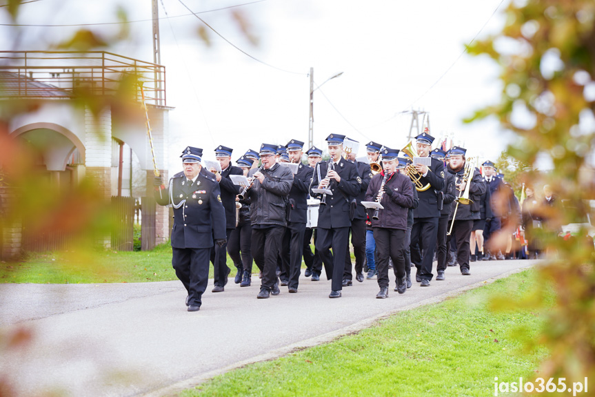
[[[416,148],[419,157],[429,157],[434,137],[425,128],[425,131],[416,136]],[[430,157],[431,158],[431,157]],[[414,160],[414,159],[413,159]],[[438,219],[440,209],[438,208],[438,192],[444,186],[444,164],[441,161],[431,158],[430,166],[414,164],[414,168],[422,175],[420,182],[423,186],[430,184],[425,191],[418,190],[419,206],[414,210],[414,222],[411,229],[411,262],[417,267],[416,280],[421,282],[421,287],[430,287],[432,274],[432,261],[434,260],[434,249],[438,236]],[[419,243],[422,251],[422,258],[414,245]]]

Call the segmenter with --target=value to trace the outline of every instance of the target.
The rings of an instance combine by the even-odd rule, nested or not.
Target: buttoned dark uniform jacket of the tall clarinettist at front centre
[[[328,162],[316,164],[312,185],[310,186],[310,196],[318,199],[322,198],[321,194],[313,193],[312,188],[318,188],[320,180],[323,180],[327,174],[327,169]],[[351,226],[349,218],[350,201],[359,195],[361,182],[357,180],[355,164],[341,157],[335,171],[341,177],[341,182],[337,183],[334,179],[330,180],[330,185],[327,188],[332,191],[332,195],[327,195],[326,205],[321,204],[319,207],[318,227],[323,229]]]

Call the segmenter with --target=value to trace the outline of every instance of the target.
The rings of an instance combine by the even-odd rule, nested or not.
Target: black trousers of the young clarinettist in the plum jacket
[[[374,240],[378,250],[379,287],[388,287],[388,258],[392,259],[392,267],[396,278],[405,277],[405,241],[407,232],[401,229],[374,228]]]

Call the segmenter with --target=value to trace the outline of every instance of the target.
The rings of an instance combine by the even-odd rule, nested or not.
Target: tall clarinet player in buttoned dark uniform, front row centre
[[[351,226],[350,201],[359,195],[359,185],[361,184],[355,164],[341,156],[344,139],[345,135],[338,134],[331,134],[327,137],[331,158],[327,162],[317,164],[310,188],[310,195],[321,198],[316,248],[321,253],[327,278],[332,278],[329,298],[341,297],[345,251]],[[328,194],[323,197],[322,193],[315,193],[314,188],[330,190],[332,195]],[[330,253],[331,248],[332,254]]]

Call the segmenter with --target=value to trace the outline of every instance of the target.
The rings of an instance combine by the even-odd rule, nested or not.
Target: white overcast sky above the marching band
[[[182,0],[195,12],[234,6],[246,0]],[[115,0],[41,0],[22,6],[20,23],[102,23],[116,21]],[[151,18],[150,0],[121,1],[128,19]],[[230,10],[200,14],[223,37],[210,32],[212,46],[197,35],[194,16],[162,19],[161,64],[166,68],[170,113],[170,164],[198,146],[205,157],[223,144],[237,159],[263,142],[307,142],[310,78],[322,84],[314,93],[314,144],[325,147],[330,133],[362,144],[392,148],[407,143],[411,115],[430,113],[434,137],[452,135],[467,153],[495,160],[512,135],[495,120],[465,125],[474,110],[498,101],[498,70],[487,58],[462,55],[464,44],[502,26],[501,0],[265,0],[241,10],[258,38],[254,46],[239,30]],[[498,12],[494,16],[496,8]],[[160,1],[160,17],[188,14],[179,0]],[[48,17],[50,16],[50,17]],[[113,35],[119,26],[94,27]],[[44,49],[74,28],[23,28],[23,47]],[[112,52],[152,61],[151,23],[130,23],[131,39]],[[6,46],[5,46],[6,48]],[[21,47],[21,49],[24,49]],[[265,65],[268,64],[268,65]],[[282,70],[279,70],[282,69]],[[446,73],[445,73],[446,72]],[[363,155],[365,149],[360,149]],[[161,165],[160,165],[161,168]]]

